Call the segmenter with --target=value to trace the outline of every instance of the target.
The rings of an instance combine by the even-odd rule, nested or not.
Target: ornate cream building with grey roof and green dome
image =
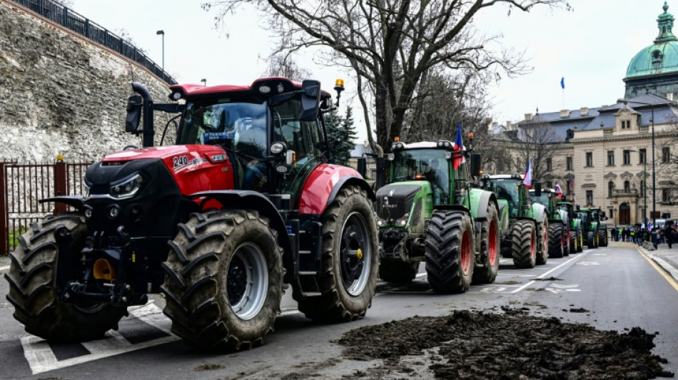
[[[664,2],[654,44],[629,63],[624,98],[612,106],[526,114],[510,128],[552,128],[557,154],[540,182],[559,180],[580,205],[602,207],[608,225],[678,217],[678,38],[668,8]]]

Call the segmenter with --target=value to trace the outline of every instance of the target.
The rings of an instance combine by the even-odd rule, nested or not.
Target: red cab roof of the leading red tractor
[[[268,93],[263,93],[260,88],[268,86]],[[259,78],[252,82],[250,86],[234,86],[234,85],[218,85],[218,86],[202,86],[199,84],[175,84],[170,86],[170,98],[174,93],[181,93],[182,98],[191,98],[193,96],[213,96],[213,95],[241,95],[248,96],[262,96],[268,97],[277,95],[278,93],[287,93],[290,91],[300,90],[301,83],[290,81],[288,78],[270,77]],[[331,95],[327,91],[320,91],[321,98],[330,98]]]

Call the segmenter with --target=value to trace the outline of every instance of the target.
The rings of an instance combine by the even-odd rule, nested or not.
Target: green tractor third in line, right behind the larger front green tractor
[[[502,257],[512,257],[517,268],[546,264],[548,215],[543,205],[532,202],[522,176],[483,175],[480,187],[497,195]]]

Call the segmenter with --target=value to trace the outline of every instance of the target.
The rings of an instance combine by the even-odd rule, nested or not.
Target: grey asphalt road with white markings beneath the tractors
[[[289,298],[276,331],[258,349],[234,354],[196,351],[169,333],[161,297],[130,309],[109,337],[57,346],[24,332],[11,317],[6,281],[0,281],[0,364],[3,379],[233,379],[280,378],[314,374],[328,378],[352,374],[375,361],[341,358],[332,343],[343,332],[413,315],[440,316],[453,309],[500,312],[525,307],[531,314],[582,322],[597,329],[642,327],[659,332],[654,354],[678,373],[678,284],[633,245],[610,246],[550,259],[534,269],[514,269],[503,260],[494,284],[472,286],[465,294],[431,292],[425,273],[408,287],[379,284],[364,319],[345,324],[315,324],[296,312]],[[575,310],[576,312],[572,312]]]

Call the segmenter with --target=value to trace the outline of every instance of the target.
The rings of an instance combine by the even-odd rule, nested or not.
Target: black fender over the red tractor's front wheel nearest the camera
[[[202,205],[206,204],[209,200],[216,200],[225,209],[242,210],[244,207],[247,207],[248,209],[256,210],[260,215],[268,218],[270,227],[278,232],[278,245],[285,251],[285,256],[292,257],[292,243],[290,242],[285,221],[280,215],[280,211],[273,205],[273,202],[261,195],[260,192],[251,190],[213,190],[195,192],[188,197],[192,199],[202,198]]]

